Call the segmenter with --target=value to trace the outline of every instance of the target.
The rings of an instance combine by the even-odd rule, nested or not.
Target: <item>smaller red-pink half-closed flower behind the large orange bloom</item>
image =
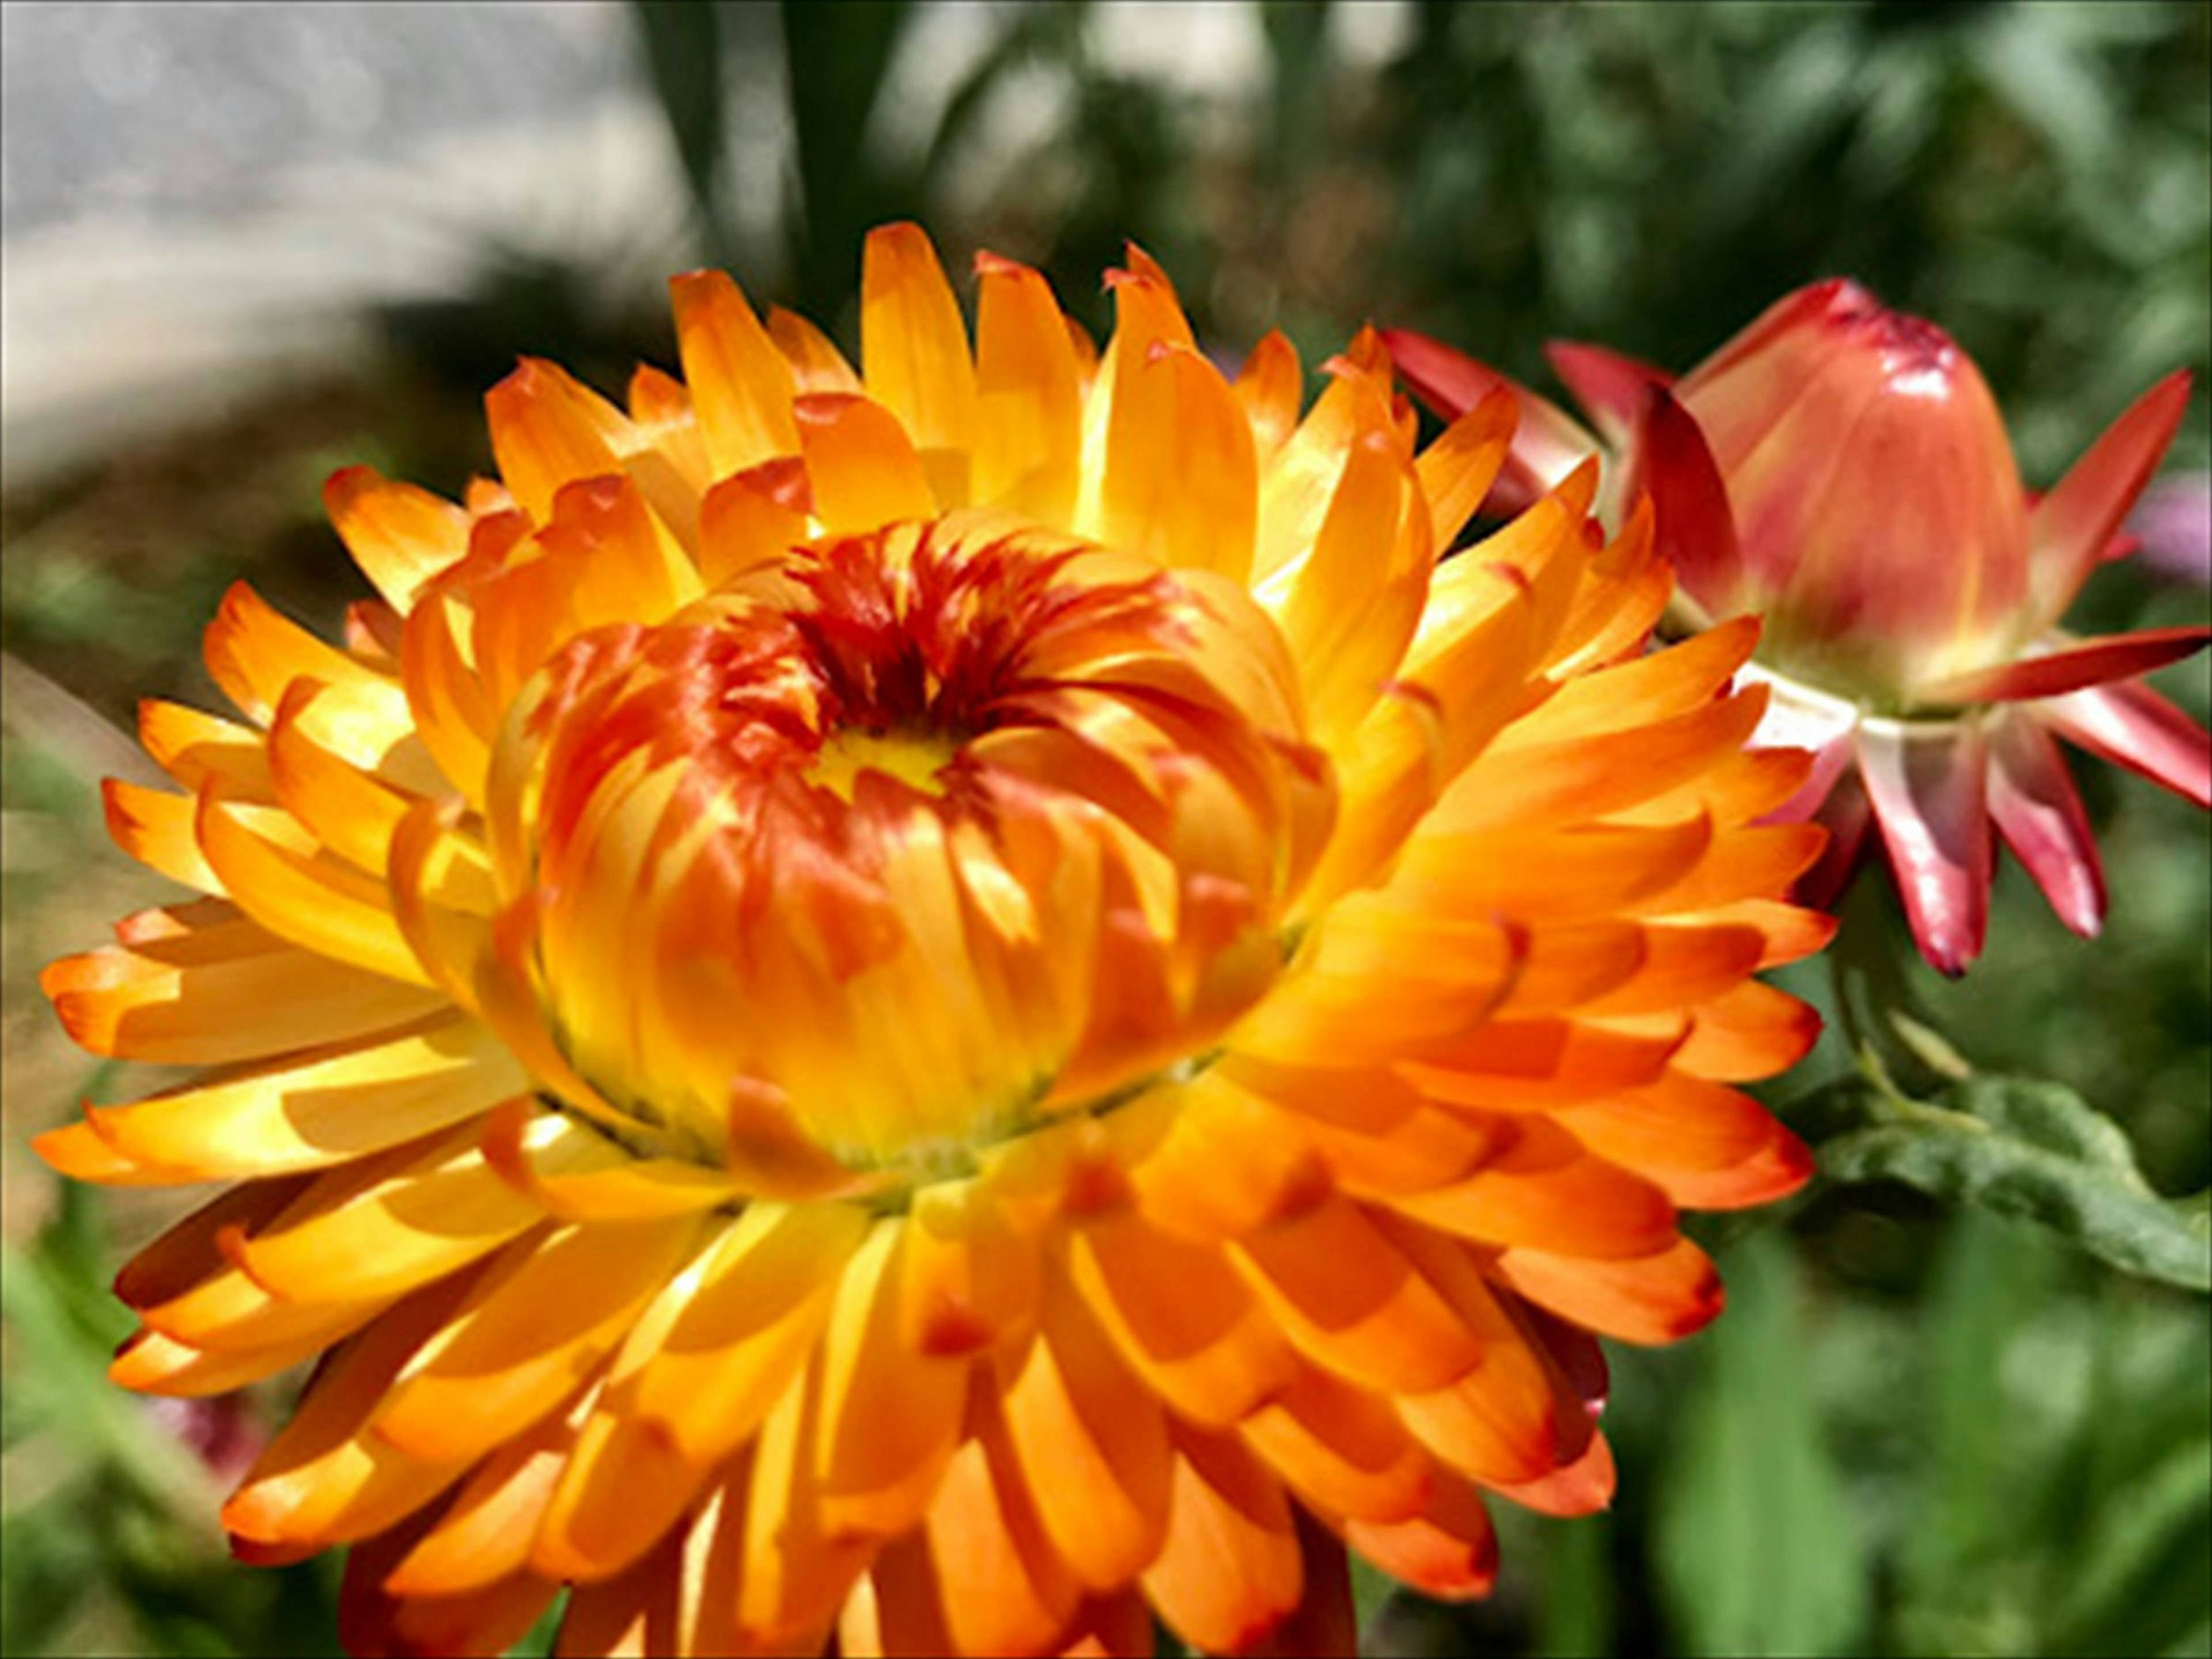
[[[1805,902],[1834,902],[1878,830],[1922,956],[1962,973],[1982,951],[2000,838],[2066,927],[2104,922],[2097,843],[2055,737],[2212,805],[2212,737],[2137,679],[2212,628],[2059,628],[2088,575],[2135,549],[2119,531],[2181,422],[2188,374],[2035,498],[1966,354],[1847,281],[1790,294],[1681,380],[1555,343],[1595,434],[1451,347],[1385,338],[1444,416],[1515,398],[1506,502],[1608,453],[1615,498],[1657,507],[1677,617],[1763,613],[1756,672],[1774,703],[1759,741],[1818,757],[1778,816],[1834,834]]]

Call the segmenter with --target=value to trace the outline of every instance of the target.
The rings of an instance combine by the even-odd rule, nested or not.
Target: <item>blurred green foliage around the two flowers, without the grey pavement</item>
[[[1548,336],[1683,367],[1776,294],[1854,274],[1966,345],[2035,482],[2166,369],[2203,383],[2212,367],[2212,7],[1422,0],[1380,58],[1343,51],[1343,7],[1239,11],[1259,75],[1201,97],[1104,49],[1144,13],[989,9],[982,49],[898,144],[885,117],[931,22],[920,4],[639,4],[639,75],[668,111],[708,252],[847,341],[860,232],[911,215],[956,272],[978,246],[1029,259],[1093,325],[1097,272],[1133,237],[1230,352],[1283,327],[1314,365],[1374,316],[1540,385]],[[787,106],[772,241],[748,239],[757,217],[730,199],[734,86]],[[1002,117],[1022,104],[1044,115],[1018,124],[1026,148],[1009,155]],[[195,695],[197,633],[241,553],[301,615],[327,622],[343,597],[327,586],[336,544],[312,526],[334,449],[451,487],[482,465],[473,396],[515,349],[602,380],[637,352],[670,356],[666,334],[595,312],[577,272],[487,272],[473,296],[392,319],[414,367],[374,396],[212,447],[254,456],[274,513],[223,518],[221,478],[161,462],[166,493],[117,518],[117,480],[144,489],[144,456],[11,504],[11,553],[44,535],[55,557],[9,560],[7,650],[108,714],[142,692]],[[396,440],[409,449],[383,449]],[[2177,462],[2208,456],[2199,394]],[[2201,622],[2205,595],[2115,568],[2084,606],[2099,626],[2154,626]],[[2199,719],[2212,710],[2203,659],[2161,684]],[[55,783],[35,734],[0,761],[15,812],[97,834],[97,805]],[[2068,1168],[1989,1146],[1900,1152],[1898,1099],[1829,1040],[1776,1099],[1807,1130],[1887,1133],[1836,1159],[1867,1181],[1705,1225],[1732,1310],[1681,1352],[1615,1354],[1617,1509],[1551,1522],[1500,1506],[1500,1586],[1473,1608],[1365,1575],[1369,1650],[2212,1652],[2212,1310],[2048,1230],[1955,1208],[1995,1190],[2008,1214],[2064,1223],[2088,1206],[2099,1237],[2121,1239],[2108,1259],[2132,1250],[2137,1267],[2201,1283],[2188,1239],[2205,1237],[2212,1183],[2205,821],[2077,770],[2112,869],[2104,940],[2068,938],[2006,872],[1991,953],[1964,982],[1865,947],[1900,975],[1891,1006],[1918,1006],[1975,1066],[2051,1079],[2017,1095],[1966,1084],[1942,1046],[1905,1042],[1898,1097],[2008,1121]],[[18,945],[73,869],[11,854]],[[1887,896],[1869,883],[1856,905],[1865,938]],[[1818,964],[1792,989],[1840,1011]],[[64,1104],[11,1099],[11,1115],[51,1121]],[[2174,1203],[2188,1194],[2194,1208]],[[106,1274],[117,1234],[137,1230],[124,1208],[71,1192],[35,1230],[11,1214],[0,1648],[330,1650],[330,1564],[223,1568],[215,1478],[173,1422],[100,1380],[122,1329]],[[2143,1245],[2137,1223],[2181,1232]],[[279,1409],[257,1396],[246,1420]]]

